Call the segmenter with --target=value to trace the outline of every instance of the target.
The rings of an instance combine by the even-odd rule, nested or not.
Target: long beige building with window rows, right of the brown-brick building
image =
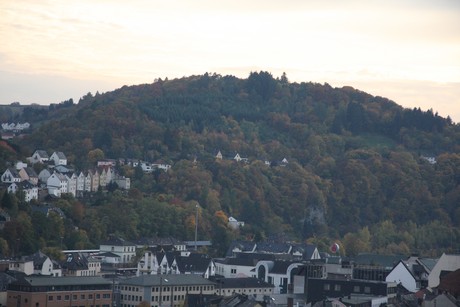
[[[215,283],[200,275],[143,275],[120,281],[120,306],[183,306],[187,294],[215,294]]]

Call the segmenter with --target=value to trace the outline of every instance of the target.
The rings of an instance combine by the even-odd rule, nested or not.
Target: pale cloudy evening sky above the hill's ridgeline
[[[252,71],[460,122],[459,0],[0,0],[0,104]]]

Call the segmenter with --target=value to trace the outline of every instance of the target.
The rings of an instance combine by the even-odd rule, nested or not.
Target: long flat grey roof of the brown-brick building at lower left
[[[26,276],[23,280],[13,282],[13,284],[20,283],[28,286],[75,286],[75,285],[107,285],[112,284],[111,280],[105,279],[100,276],[62,276],[62,277],[35,277]]]

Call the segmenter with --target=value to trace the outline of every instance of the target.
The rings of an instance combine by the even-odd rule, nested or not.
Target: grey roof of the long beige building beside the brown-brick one
[[[163,284],[172,286],[188,285],[215,285],[214,282],[195,274],[166,274],[166,275],[142,275],[120,281],[122,285],[152,287],[160,285],[160,278]]]

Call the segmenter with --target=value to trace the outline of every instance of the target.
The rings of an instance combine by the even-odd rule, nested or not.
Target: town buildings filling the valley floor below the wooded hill
[[[172,238],[110,237],[98,250],[1,260],[6,306],[458,306],[460,255],[439,259],[235,241],[223,258]],[[204,249],[203,249],[204,250]],[[203,251],[201,250],[201,251]]]

